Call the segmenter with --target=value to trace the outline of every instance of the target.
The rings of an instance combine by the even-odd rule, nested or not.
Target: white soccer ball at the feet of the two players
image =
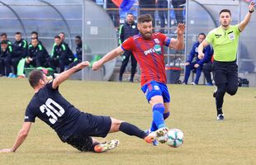
[[[183,144],[183,131],[178,130],[178,129],[171,129],[168,130],[168,133],[166,134],[166,144],[168,146],[173,147],[173,148],[178,148]]]

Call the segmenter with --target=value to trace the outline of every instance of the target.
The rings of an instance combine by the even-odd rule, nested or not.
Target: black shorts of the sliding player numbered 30
[[[78,117],[77,125],[78,130],[66,140],[66,143],[79,151],[92,151],[92,137],[106,137],[111,129],[111,118],[83,113]]]

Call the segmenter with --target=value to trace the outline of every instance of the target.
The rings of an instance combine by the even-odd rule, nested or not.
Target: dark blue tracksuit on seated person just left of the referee
[[[206,46],[206,48],[203,50],[205,57],[203,59],[198,59],[198,50],[197,49],[198,49],[199,45],[200,45],[200,43],[197,41],[197,43],[195,43],[193,45],[192,50],[191,50],[190,54],[188,55],[187,62],[190,64],[186,66],[186,70],[185,70],[184,83],[186,83],[186,84],[187,84],[187,80],[190,76],[191,70],[196,71],[197,76],[196,76],[196,79],[194,82],[196,84],[198,84],[199,78],[201,76],[201,68],[202,68],[203,64],[206,63],[209,58],[211,59],[211,55],[212,55],[211,45]],[[199,67],[195,68],[194,67],[195,64],[199,64]]]

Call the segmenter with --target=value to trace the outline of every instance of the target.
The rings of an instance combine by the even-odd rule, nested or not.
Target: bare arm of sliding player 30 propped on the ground
[[[17,135],[17,139],[15,140],[15,143],[13,144],[12,148],[3,148],[0,149],[0,153],[13,153],[21,146],[21,144],[26,139],[29,131],[31,130],[31,122],[24,122],[22,125],[22,128],[20,132]]]

